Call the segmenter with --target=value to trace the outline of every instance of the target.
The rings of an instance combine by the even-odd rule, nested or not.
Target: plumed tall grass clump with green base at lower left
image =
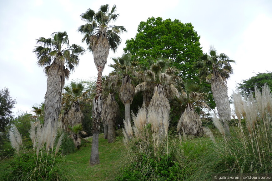
[[[63,134],[56,141],[57,124],[52,129],[50,123],[45,126],[39,122],[31,123],[30,137],[33,149],[23,152],[20,151],[20,133],[15,126],[13,130],[14,132],[10,132],[11,144],[18,154],[9,163],[7,180],[66,180],[68,178],[61,169],[63,161],[58,158]]]

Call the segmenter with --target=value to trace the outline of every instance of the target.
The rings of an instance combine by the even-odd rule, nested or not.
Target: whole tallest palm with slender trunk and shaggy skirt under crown
[[[114,22],[119,14],[115,14],[116,6],[113,5],[109,11],[109,5],[100,6],[98,12],[88,9],[85,13],[81,14],[81,18],[86,21],[85,25],[78,28],[78,31],[84,34],[82,42],[86,42],[88,50],[93,53],[94,64],[97,68],[97,83],[96,95],[93,99],[93,143],[90,157],[90,164],[99,164],[98,154],[98,134],[100,129],[100,117],[102,111],[102,72],[109,50],[113,52],[117,50],[118,45],[121,43],[121,38],[118,34],[127,32],[123,26],[109,25]]]

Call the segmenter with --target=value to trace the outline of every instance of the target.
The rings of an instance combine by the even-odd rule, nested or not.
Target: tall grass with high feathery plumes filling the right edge
[[[262,93],[255,87],[252,93],[242,96],[234,92],[234,111],[238,117],[235,135],[225,138],[225,168],[227,173],[272,173],[272,94],[267,85]],[[241,123],[245,119],[246,124]],[[216,119],[214,119],[216,122]]]

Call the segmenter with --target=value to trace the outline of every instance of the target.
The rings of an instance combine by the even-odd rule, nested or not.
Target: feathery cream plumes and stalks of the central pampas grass
[[[153,155],[155,159],[159,160],[160,153],[168,153],[169,115],[167,110],[158,115],[156,111],[151,108],[147,110],[143,106],[139,108],[136,115],[132,113],[132,120],[133,126],[130,122],[123,121],[125,125],[123,129],[124,143],[128,150],[132,151],[130,154],[135,155],[133,152],[136,151],[143,155]],[[131,149],[133,147],[137,149]]]

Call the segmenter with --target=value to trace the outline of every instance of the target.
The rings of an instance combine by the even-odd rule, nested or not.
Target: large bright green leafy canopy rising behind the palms
[[[140,22],[137,31],[135,38],[126,41],[125,52],[139,58],[145,66],[148,66],[146,58],[171,59],[184,80],[196,77],[191,65],[202,55],[202,50],[200,36],[191,23],[151,17]]]

